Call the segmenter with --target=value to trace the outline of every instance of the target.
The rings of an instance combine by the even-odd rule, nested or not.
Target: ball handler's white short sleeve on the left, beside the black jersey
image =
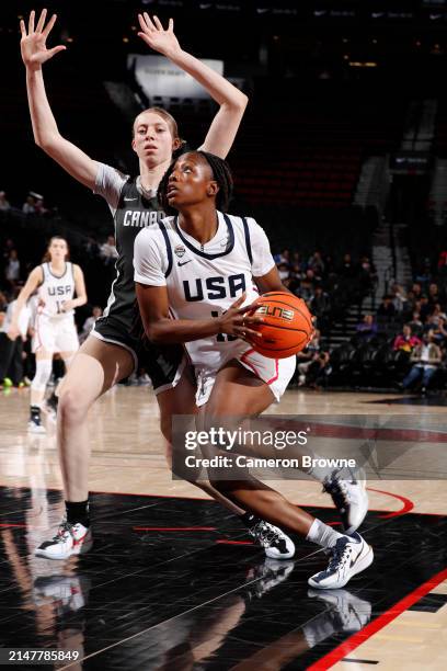
[[[168,255],[162,252],[162,241],[158,239],[157,231],[148,228],[140,230],[135,238],[134,247],[134,280],[149,286],[165,286],[165,271]]]

